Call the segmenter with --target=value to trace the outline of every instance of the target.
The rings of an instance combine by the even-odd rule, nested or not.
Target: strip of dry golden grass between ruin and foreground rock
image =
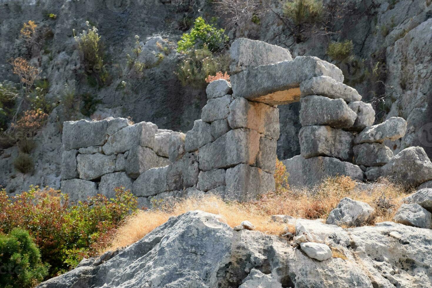
[[[378,199],[385,196],[390,199],[392,209],[382,209]],[[242,221],[248,220],[256,226],[257,231],[266,234],[282,235],[284,223],[273,222],[271,215],[286,214],[295,218],[327,218],[343,197],[361,200],[375,208],[375,222],[387,221],[393,218],[394,212],[402,204],[406,196],[402,187],[391,184],[386,180],[375,184],[373,189],[362,191],[356,189],[355,181],[349,177],[335,177],[324,181],[312,190],[279,189],[247,203],[224,202],[218,196],[203,196],[178,200],[175,203],[162,203],[162,207],[155,210],[139,211],[131,215],[116,233],[109,250],[128,246],[140,240],[154,228],[165,223],[170,216],[177,216],[191,210],[219,214],[226,218],[226,223],[234,227]],[[371,223],[371,224],[374,224]],[[288,230],[295,232],[294,226]],[[338,255],[337,252],[335,255]],[[343,258],[343,256],[340,256]]]

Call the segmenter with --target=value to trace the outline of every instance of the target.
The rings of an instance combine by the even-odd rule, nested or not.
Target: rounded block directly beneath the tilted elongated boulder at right
[[[380,143],[363,143],[353,147],[354,162],[365,167],[382,166],[393,157],[393,151]]]

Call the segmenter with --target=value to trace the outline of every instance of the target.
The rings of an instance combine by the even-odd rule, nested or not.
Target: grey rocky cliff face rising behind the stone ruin
[[[345,3],[345,2],[344,2]],[[364,101],[374,101],[377,122],[399,116],[407,119],[407,134],[400,140],[385,144],[394,152],[408,146],[422,146],[432,155],[432,134],[428,123],[431,115],[431,5],[422,0],[346,1],[344,17],[332,23],[334,35],[314,35],[296,43],[280,19],[271,10],[261,17],[259,24],[248,23],[241,31],[229,31],[231,41],[238,36],[259,39],[288,48],[293,57],[317,56],[329,60],[325,54],[330,41],[353,40],[355,59],[364,64],[354,69],[352,61],[336,63],[346,67],[348,84],[356,88]],[[91,93],[100,100],[95,114],[100,117],[132,117],[135,122],[151,121],[161,129],[187,131],[199,118],[206,102],[203,88],[182,86],[174,74],[181,56],[175,52],[175,43],[184,30],[185,19],[215,16],[214,5],[208,1],[15,1],[0,3],[0,75],[1,80],[17,81],[11,74],[7,60],[18,57],[22,39],[18,37],[22,23],[34,20],[51,31],[42,52],[30,55],[32,63],[43,71],[41,76],[51,83],[47,97],[57,101],[64,94],[64,84],[76,90],[77,95]],[[272,10],[281,14],[280,3],[272,3]],[[56,19],[47,15],[53,13]],[[218,15],[216,15],[218,16]],[[220,18],[220,17],[219,17]],[[112,83],[98,89],[89,79],[79,74],[79,54],[72,29],[80,31],[89,21],[99,28],[107,48],[108,67]],[[219,19],[223,26],[223,18]],[[166,47],[168,54],[158,66],[148,69],[142,79],[129,77],[126,54],[130,53],[135,35],[145,43],[146,56],[158,51],[156,42]],[[151,59],[150,59],[151,60]],[[378,70],[374,70],[377,68]],[[353,70],[354,69],[354,70]],[[371,76],[372,75],[372,76]],[[347,76],[347,75],[346,75]],[[121,81],[130,89],[117,89]],[[379,82],[382,81],[382,82]],[[377,101],[380,98],[384,101]],[[379,102],[379,104],[377,104]],[[278,156],[290,158],[300,152],[298,133],[300,104],[280,106],[280,139]],[[84,117],[84,116],[83,116]],[[43,130],[45,141],[39,141],[33,175],[13,169],[16,147],[2,151],[0,156],[0,184],[10,192],[25,190],[28,184],[50,185],[60,183],[60,135],[64,120],[61,106],[50,115],[49,127]],[[425,126],[426,125],[426,126]],[[49,163],[49,164],[48,164]],[[50,175],[50,176],[47,176]]]

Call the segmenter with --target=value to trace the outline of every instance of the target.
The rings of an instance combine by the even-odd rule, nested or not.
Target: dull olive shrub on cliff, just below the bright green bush
[[[182,85],[205,85],[207,76],[229,70],[229,60],[223,54],[214,56],[206,48],[191,51],[178,66],[178,79]]]

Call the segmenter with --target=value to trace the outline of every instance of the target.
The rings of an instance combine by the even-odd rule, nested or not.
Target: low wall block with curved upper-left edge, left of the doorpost
[[[167,172],[168,166],[145,171],[133,182],[133,195],[147,197],[168,191]]]

